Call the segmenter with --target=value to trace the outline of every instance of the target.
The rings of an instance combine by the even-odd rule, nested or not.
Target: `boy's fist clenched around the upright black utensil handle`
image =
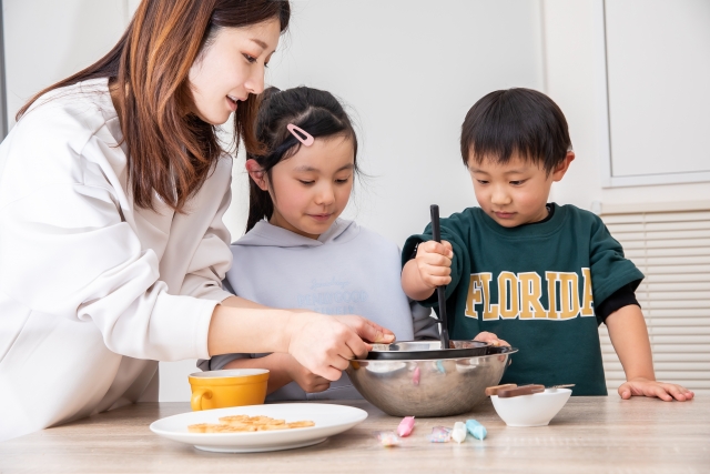
[[[424,301],[434,294],[437,286],[452,282],[452,244],[428,241],[417,246],[416,258],[402,269],[402,289],[415,301]]]

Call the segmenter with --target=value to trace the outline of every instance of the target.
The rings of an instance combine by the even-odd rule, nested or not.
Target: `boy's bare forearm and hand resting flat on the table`
[[[693,393],[672,383],[656,381],[651,344],[641,309],[635,304],[623,306],[609,314],[605,323],[609,339],[626,373],[626,383],[619,386],[623,400],[631,396],[657,396],[670,402],[691,400]]]

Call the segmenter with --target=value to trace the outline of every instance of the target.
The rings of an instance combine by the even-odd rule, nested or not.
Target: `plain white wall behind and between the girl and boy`
[[[296,1],[267,81],[325,89],[351,107],[372,179],[347,214],[402,244],[424,229],[429,204],[448,215],[476,203],[462,122],[487,92],[542,88],[539,14],[538,1]],[[242,170],[237,161],[234,238],[246,222]]]

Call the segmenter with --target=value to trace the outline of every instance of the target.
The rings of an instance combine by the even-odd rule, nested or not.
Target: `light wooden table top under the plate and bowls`
[[[710,472],[706,400],[572,397],[549,426],[529,428],[506,426],[487,400],[468,415],[417,418],[412,436],[392,448],[373,432],[394,430],[399,418],[364,401],[343,404],[369,416],[315,446],[254,454],[202,452],[149,430],[158,418],[190,411],[187,403],[130,405],[0,443],[0,473]],[[487,427],[485,441],[426,440],[433,426],[469,417]]]

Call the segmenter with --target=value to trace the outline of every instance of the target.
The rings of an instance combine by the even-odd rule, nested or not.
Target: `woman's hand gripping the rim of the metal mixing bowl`
[[[329,381],[341,377],[351,359],[367,354],[371,345],[363,339],[394,340],[392,332],[364,317],[336,319],[312,312],[292,313],[286,333],[288,353],[308,371]]]

